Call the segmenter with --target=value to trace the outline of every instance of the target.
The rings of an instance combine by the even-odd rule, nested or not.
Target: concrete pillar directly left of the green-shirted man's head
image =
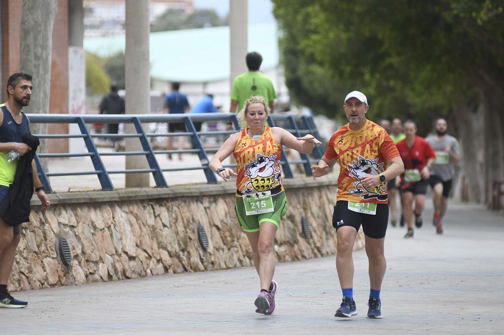
[[[230,88],[234,77],[247,69],[245,64],[245,56],[248,50],[247,3],[247,0],[229,0],[229,49],[231,56]],[[231,91],[229,92],[231,93]]]

